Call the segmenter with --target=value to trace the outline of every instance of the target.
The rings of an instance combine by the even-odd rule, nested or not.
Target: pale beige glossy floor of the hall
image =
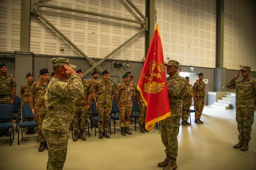
[[[194,123],[180,126],[178,135],[178,169],[256,169],[256,125],[252,126],[252,140],[246,152],[234,149],[237,143],[237,124],[235,110],[219,111],[205,107],[201,120],[204,124]],[[117,124],[118,126],[118,124]],[[113,128],[113,123],[112,123]],[[157,163],[165,158],[164,146],[157,130],[142,134],[134,125],[132,135],[121,136],[112,129],[110,139],[99,139],[90,132],[86,141],[69,139],[67,159],[63,169],[162,169]],[[38,152],[37,135],[25,135],[17,145],[17,134],[10,147],[8,137],[0,138],[0,169],[46,169],[47,150]]]

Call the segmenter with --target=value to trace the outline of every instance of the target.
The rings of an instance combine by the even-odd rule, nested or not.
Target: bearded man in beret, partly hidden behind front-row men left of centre
[[[98,71],[97,70],[94,70],[92,72],[92,77],[93,78],[89,81],[91,92],[93,92],[94,84],[98,82]],[[98,93],[96,92],[95,95],[96,95],[96,101],[97,101],[98,100]],[[90,107],[89,107],[89,111],[90,111],[89,118],[90,118],[90,122],[91,122],[91,129],[94,128],[94,124],[93,124],[93,120],[92,120],[92,117],[93,117],[92,116],[92,103],[93,102],[94,102],[93,95],[91,93],[91,100],[90,100]],[[94,116],[98,116],[98,114],[94,115]],[[98,123],[96,123],[96,128],[99,128]]]

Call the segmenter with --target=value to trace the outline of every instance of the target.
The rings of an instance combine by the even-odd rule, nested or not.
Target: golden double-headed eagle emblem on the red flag
[[[156,53],[154,53],[155,55]],[[149,76],[146,76],[146,72],[148,71]],[[157,73],[158,72],[158,73]],[[165,86],[165,82],[159,83],[156,81],[152,81],[154,77],[161,80],[161,74],[164,72],[164,65],[162,62],[159,62],[158,65],[155,60],[151,60],[147,65],[145,72],[142,74],[142,80],[145,78],[148,80],[147,83],[144,83],[143,91],[148,94],[156,94],[160,93]]]

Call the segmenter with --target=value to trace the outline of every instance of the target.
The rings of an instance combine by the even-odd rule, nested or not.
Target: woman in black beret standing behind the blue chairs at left
[[[31,86],[33,84],[33,74],[31,72],[29,72],[26,76],[27,78],[27,82],[22,84],[20,87],[20,96],[23,100],[23,105],[29,103],[29,97],[30,97],[30,90],[31,90]],[[34,118],[29,118],[27,119],[27,121],[33,121]],[[27,128],[27,132],[26,134],[34,134],[35,133],[35,129],[34,128]]]

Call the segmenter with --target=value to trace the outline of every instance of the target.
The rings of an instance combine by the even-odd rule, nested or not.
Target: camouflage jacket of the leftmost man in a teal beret
[[[6,74],[5,78],[0,76],[0,96],[12,95],[12,87],[17,86],[13,75]]]

